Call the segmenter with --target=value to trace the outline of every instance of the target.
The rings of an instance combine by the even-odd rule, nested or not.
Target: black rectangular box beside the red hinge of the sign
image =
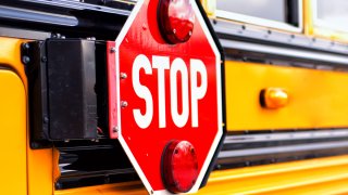
[[[49,39],[47,60],[50,139],[95,139],[95,42]]]

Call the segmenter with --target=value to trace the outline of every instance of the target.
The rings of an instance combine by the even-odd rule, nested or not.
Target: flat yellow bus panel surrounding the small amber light
[[[348,74],[227,61],[227,130],[348,127]],[[264,88],[283,88],[289,102],[262,108]]]

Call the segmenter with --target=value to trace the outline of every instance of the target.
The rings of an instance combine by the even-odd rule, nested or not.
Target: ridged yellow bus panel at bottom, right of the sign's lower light
[[[347,193],[348,156],[215,171],[199,194]]]

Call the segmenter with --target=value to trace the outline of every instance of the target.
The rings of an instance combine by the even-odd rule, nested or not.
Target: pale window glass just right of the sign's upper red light
[[[288,21],[286,0],[216,0],[216,9],[283,23]]]

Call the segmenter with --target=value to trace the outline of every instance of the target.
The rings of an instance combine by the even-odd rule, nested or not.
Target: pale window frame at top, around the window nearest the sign
[[[303,0],[297,0],[297,1],[298,1],[297,3],[298,26],[291,25],[290,23],[283,23],[283,22],[266,20],[262,17],[219,10],[217,2],[215,2],[215,16],[216,18],[237,21],[237,22],[248,23],[252,25],[270,27],[275,29],[283,29],[283,30],[294,31],[294,32],[302,32],[303,31]],[[294,14],[294,11],[291,11],[291,14]]]

